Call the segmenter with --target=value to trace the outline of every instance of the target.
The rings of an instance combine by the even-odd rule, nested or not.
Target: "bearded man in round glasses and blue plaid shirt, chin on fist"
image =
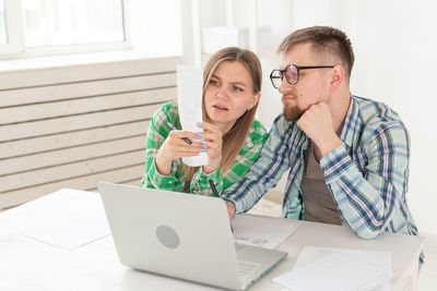
[[[409,133],[388,106],[351,95],[347,36],[304,28],[277,51],[283,62],[270,78],[284,112],[259,160],[222,193],[229,217],[249,210],[290,170],[283,217],[349,226],[364,239],[382,231],[417,234],[405,201]]]

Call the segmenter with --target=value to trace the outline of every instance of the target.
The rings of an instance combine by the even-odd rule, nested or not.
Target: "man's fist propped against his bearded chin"
[[[322,157],[341,145],[332,123],[331,111],[326,102],[310,106],[297,121],[297,126],[311,138]]]

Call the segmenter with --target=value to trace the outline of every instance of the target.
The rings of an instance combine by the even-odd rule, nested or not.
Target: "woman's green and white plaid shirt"
[[[151,120],[145,142],[145,169],[141,181],[142,187],[213,195],[209,184],[209,180],[211,179],[217,192],[221,193],[243,177],[258,159],[268,136],[264,126],[255,120],[238,156],[223,177],[220,174],[220,168],[206,174],[202,172],[200,167],[192,180],[187,181],[182,172],[180,159],[172,162],[172,173],[169,175],[162,175],[156,170],[155,159],[157,151],[172,131],[166,122],[170,122],[177,129],[180,129],[176,101],[164,104]]]

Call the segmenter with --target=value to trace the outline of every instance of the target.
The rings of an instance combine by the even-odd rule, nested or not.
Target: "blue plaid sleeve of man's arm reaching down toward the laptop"
[[[288,124],[277,118],[271,129],[258,160],[236,183],[227,187],[222,197],[235,206],[235,213],[249,210],[264,193],[276,185],[290,167]]]

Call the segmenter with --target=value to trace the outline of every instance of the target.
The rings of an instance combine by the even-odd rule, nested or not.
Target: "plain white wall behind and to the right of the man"
[[[434,1],[294,0],[294,28],[332,25],[355,51],[353,94],[390,105],[411,135],[408,202],[420,231],[437,234],[437,52]]]

